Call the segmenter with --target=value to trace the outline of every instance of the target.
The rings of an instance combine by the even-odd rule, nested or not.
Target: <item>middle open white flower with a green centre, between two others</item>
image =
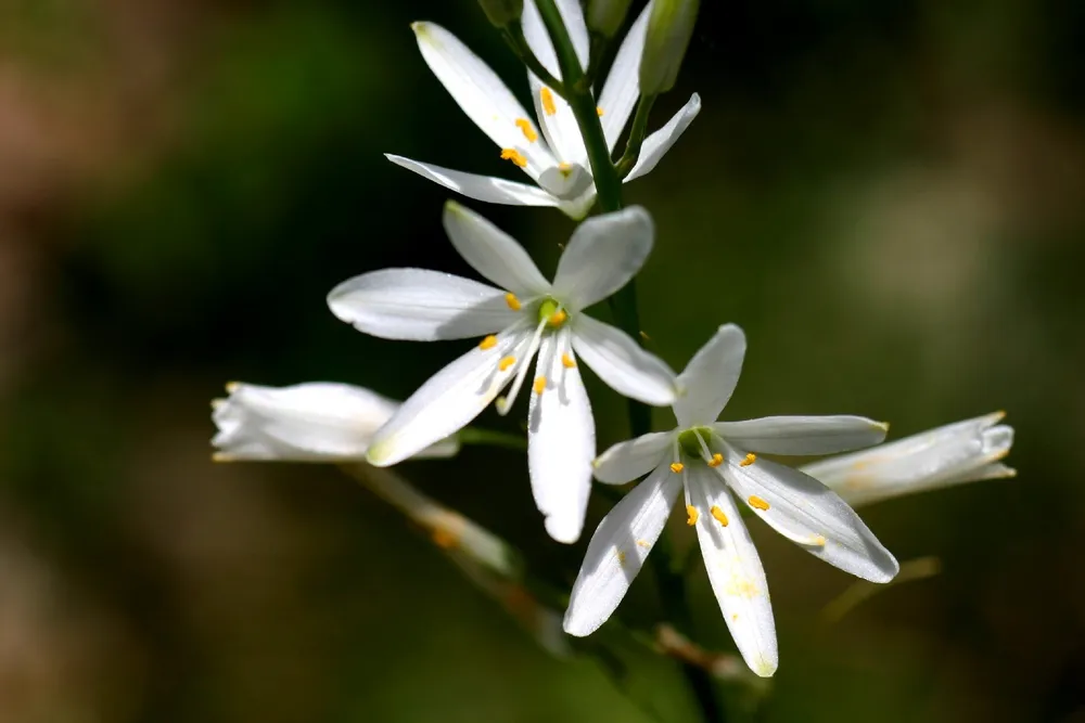
[[[535,504],[556,540],[573,542],[584,526],[596,453],[591,405],[577,357],[608,385],[649,404],[675,398],[674,372],[623,332],[582,313],[624,286],[652,247],[641,208],[597,216],[570,238],[551,284],[527,253],[481,216],[448,203],[445,229],[456,250],[500,288],[422,269],[385,269],[346,281],[328,295],[332,312],[359,331],[390,339],[432,341],[484,336],[437,372],[381,428],[367,457],[395,464],[477,416],[512,383],[508,412],[527,375],[528,466]]]

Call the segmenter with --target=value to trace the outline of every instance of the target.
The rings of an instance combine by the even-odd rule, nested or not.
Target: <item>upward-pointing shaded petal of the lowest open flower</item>
[[[742,374],[745,334],[724,324],[678,375],[675,416],[679,427],[712,424],[727,405]]]

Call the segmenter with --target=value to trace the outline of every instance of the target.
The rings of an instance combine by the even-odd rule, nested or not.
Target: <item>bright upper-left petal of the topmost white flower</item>
[[[434,23],[411,25],[426,65],[471,120],[501,149],[516,149],[524,169],[537,178],[553,158],[542,144],[531,143],[516,126],[531,116],[501,79],[451,33]]]

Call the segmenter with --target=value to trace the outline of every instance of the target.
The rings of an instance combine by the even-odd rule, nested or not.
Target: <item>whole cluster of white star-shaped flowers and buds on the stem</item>
[[[628,2],[593,3],[588,20],[577,0],[484,5],[529,68],[534,116],[450,33],[432,23],[412,28],[422,57],[452,99],[535,185],[390,155],[395,164],[475,201],[556,206],[580,219],[605,195],[604,179],[618,178],[618,170],[624,181],[650,171],[695,117],[700,99],[694,94],[652,134],[635,121],[626,154],[613,160],[634,108],[638,120],[647,120],[654,96],[673,85],[695,2],[649,2],[617,49],[598,100],[589,82],[598,54],[593,43],[613,36]],[[611,12],[603,5],[612,5]],[[592,21],[596,15],[601,20]],[[600,23],[595,35],[589,22]],[[328,295],[328,306],[372,336],[471,338],[474,347],[401,404],[344,384],[228,385],[229,397],[214,403],[215,456],[365,463],[361,468],[375,474],[412,457],[456,454],[467,439],[464,428],[478,414],[490,403],[498,413],[509,413],[526,387],[527,469],[551,538],[562,543],[580,538],[592,478],[603,485],[642,478],[591,535],[564,631],[588,635],[612,616],[681,494],[723,619],[751,670],[768,676],[778,664],[776,627],[765,570],[743,517],[761,518],[854,576],[888,582],[899,566],[851,505],[1010,476],[1013,470],[999,460],[1009,452],[1012,429],[998,424],[1001,414],[993,414],[881,444],[888,425],[863,416],[718,421],[745,357],[739,326],[719,326],[676,374],[639,346],[636,328],[618,328],[587,313],[633,283],[655,243],[651,216],[639,207],[621,208],[621,185],[616,189],[616,199],[603,204],[609,212],[575,228],[552,281],[514,238],[448,202],[443,218],[448,238],[488,283],[426,269],[383,269],[344,281]],[[669,406],[676,427],[641,429],[644,434],[597,455],[582,364],[620,395]],[[776,460],[844,452],[797,468]],[[508,582],[514,572],[502,541],[419,496],[397,477],[375,479],[392,479],[374,489],[435,540],[445,535],[442,546],[460,550],[465,567],[497,576],[488,589],[520,590]]]

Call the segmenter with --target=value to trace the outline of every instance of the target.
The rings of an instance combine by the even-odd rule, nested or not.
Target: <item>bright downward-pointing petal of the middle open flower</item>
[[[574,366],[562,363],[569,354]],[[545,391],[532,390],[527,413],[527,465],[535,505],[546,517],[546,531],[558,542],[580,537],[591,492],[591,460],[596,425],[588,392],[569,350],[569,332],[542,340],[536,379]]]

